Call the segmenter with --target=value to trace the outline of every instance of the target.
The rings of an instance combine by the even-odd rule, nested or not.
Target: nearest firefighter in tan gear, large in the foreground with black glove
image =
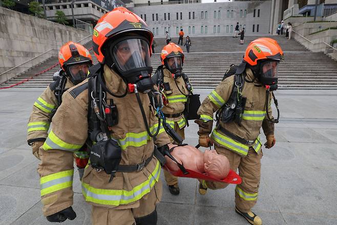
[[[49,221],[76,217],[72,153],[89,138],[82,194],[92,205],[92,224],[157,224],[162,188],[154,154],[168,150],[170,139],[149,98],[152,40],[145,22],[123,7],[97,21],[93,50],[99,64],[64,93],[39,148],[41,201]]]

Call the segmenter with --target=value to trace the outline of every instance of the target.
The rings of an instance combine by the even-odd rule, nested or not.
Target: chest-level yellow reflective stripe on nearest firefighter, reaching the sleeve
[[[154,133],[155,131],[157,131],[157,128],[158,128],[158,123],[150,127],[150,131]],[[164,131],[165,130],[161,124],[159,133],[162,133]],[[129,146],[140,147],[140,146],[146,145],[149,140],[151,140],[151,137],[149,136],[148,132],[143,131],[140,133],[128,132],[125,134],[125,138],[119,139],[117,141],[118,141],[119,146],[122,148],[122,150],[125,150]]]

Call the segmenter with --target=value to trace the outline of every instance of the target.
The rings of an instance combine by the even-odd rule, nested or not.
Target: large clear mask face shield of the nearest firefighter
[[[152,73],[150,48],[144,39],[131,38],[119,41],[110,51],[122,76],[128,78]]]

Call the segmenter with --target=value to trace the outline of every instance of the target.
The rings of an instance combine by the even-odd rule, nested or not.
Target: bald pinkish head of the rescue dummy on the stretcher
[[[205,172],[218,179],[225,178],[229,173],[229,161],[226,156],[215,150],[206,150],[204,153]]]

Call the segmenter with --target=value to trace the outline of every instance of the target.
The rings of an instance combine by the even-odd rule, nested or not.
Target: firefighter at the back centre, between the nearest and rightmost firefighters
[[[186,120],[184,111],[189,91],[185,83],[188,78],[182,73],[184,54],[177,44],[171,42],[161,50],[160,59],[161,65],[158,66],[153,80],[165,98],[162,111],[166,117],[166,122],[182,139],[185,139]],[[171,141],[174,143],[173,139]],[[178,195],[180,193],[178,177],[166,170],[164,170],[164,176],[170,193]]]

